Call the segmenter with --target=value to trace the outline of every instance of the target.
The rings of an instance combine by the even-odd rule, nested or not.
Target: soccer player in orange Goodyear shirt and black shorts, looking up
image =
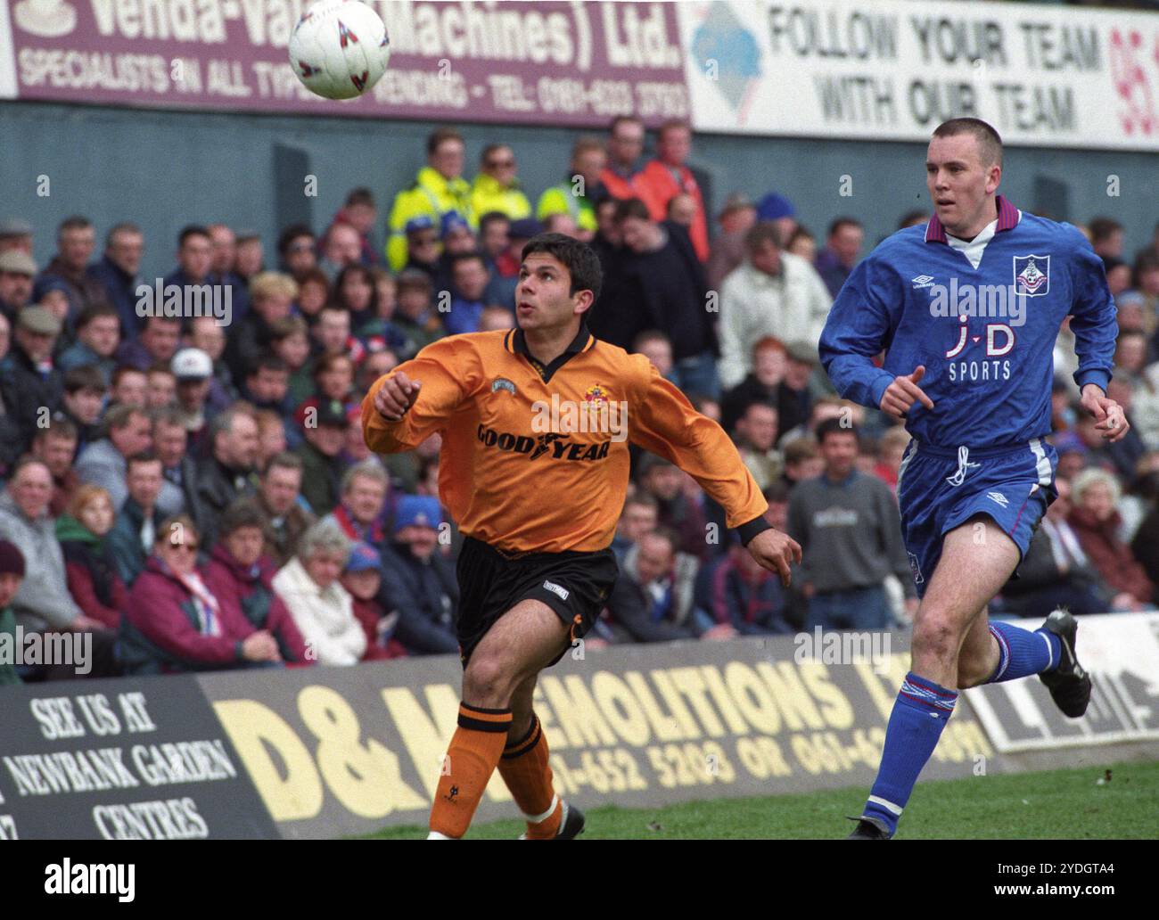
[[[786,584],[801,560],[801,547],[765,521],[768,505],[720,425],[643,355],[588,331],[600,280],[586,244],[534,238],[523,250],[517,329],[433,342],[363,400],[363,432],[378,453],[443,433],[439,497],[466,538],[457,571],[462,701],[431,809],[433,839],[466,833],[496,767],[527,839],[583,830],[583,815],[553,789],[532,693],[615,584],[610,545],[629,441],[692,475]]]

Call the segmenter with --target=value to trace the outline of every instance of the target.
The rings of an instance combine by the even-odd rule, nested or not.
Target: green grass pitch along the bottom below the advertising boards
[[[1110,780],[1106,780],[1110,769]],[[897,839],[1159,838],[1159,762],[1011,773],[919,782]],[[1099,782],[1103,780],[1103,782]],[[717,798],[655,809],[585,811],[582,840],[840,838],[853,827],[867,788],[758,798]],[[522,822],[472,827],[467,839],[518,837]],[[391,827],[373,839],[421,839],[421,827]]]

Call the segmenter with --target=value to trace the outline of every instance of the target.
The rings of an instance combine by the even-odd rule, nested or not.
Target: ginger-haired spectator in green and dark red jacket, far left
[[[99,485],[81,485],[57,518],[57,540],[65,556],[68,593],[83,614],[110,629],[121,625],[129,592],[104,538],[112,530],[112,499]]]

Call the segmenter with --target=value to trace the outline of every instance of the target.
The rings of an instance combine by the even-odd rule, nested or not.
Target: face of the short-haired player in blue
[[[934,213],[950,234],[972,238],[994,219],[986,199],[998,190],[1001,171],[997,163],[983,163],[974,134],[930,141],[926,188]]]

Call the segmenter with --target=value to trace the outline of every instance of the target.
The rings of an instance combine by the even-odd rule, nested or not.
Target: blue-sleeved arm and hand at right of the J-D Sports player
[[[1072,231],[1079,236],[1078,231]],[[1102,260],[1091,244],[1079,236],[1069,262],[1071,276],[1071,331],[1079,366],[1074,382],[1083,393],[1083,408],[1096,419],[1102,437],[1116,441],[1127,437],[1131,425],[1122,407],[1107,396],[1110,370],[1118,336],[1115,300],[1107,287]]]

